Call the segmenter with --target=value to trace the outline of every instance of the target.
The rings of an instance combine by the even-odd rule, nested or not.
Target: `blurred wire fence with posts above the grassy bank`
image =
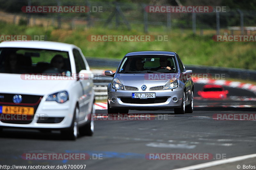
[[[196,33],[204,29],[215,29],[216,34],[228,33],[228,27],[239,27],[237,34],[249,34],[245,26],[256,25],[256,12],[249,10],[228,9],[227,12],[212,13],[150,13],[145,10],[150,4],[110,3],[100,1],[68,0],[0,0],[1,19],[15,24],[28,26],[43,25],[67,29],[84,29],[87,27],[106,27],[121,29],[141,29],[147,33],[161,28],[165,32],[173,29],[189,29]],[[15,5],[14,5],[15,4]],[[87,6],[88,12],[82,13],[24,13],[22,6]],[[158,4],[159,5],[159,4]],[[160,4],[170,5],[170,4]],[[223,30],[221,30],[223,29]],[[229,31],[231,33],[231,31]],[[232,32],[234,33],[234,32]]]

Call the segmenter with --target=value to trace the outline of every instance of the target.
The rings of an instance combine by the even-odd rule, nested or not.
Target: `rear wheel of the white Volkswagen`
[[[88,122],[79,128],[79,134],[83,136],[92,136],[94,132],[94,120],[92,119],[92,116],[95,114],[94,110],[94,104],[92,106],[91,116],[88,117]]]

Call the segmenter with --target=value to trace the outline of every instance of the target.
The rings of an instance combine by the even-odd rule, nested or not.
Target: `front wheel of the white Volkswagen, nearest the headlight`
[[[69,140],[76,140],[79,134],[78,124],[76,120],[78,117],[78,114],[79,114],[79,108],[78,108],[78,105],[76,105],[71,126],[67,129],[61,130],[62,138],[69,139]]]

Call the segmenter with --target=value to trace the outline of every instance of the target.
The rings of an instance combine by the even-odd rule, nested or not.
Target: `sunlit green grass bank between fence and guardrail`
[[[135,29],[136,28],[136,29]],[[255,42],[214,42],[214,30],[204,30],[200,36],[191,30],[172,29],[168,41],[152,42],[90,42],[89,35],[145,35],[143,27],[132,26],[108,29],[92,27],[86,29],[56,29],[44,27],[17,26],[0,22],[1,35],[46,35],[48,41],[72,43],[80,47],[85,56],[101,58],[118,58],[131,51],[166,50],[179,54],[184,64],[223,66],[245,69],[256,69]],[[167,35],[164,27],[151,27],[147,35]]]

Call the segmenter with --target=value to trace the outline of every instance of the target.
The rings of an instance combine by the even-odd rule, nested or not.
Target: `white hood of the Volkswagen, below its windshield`
[[[76,80],[23,80],[22,74],[0,73],[0,93],[46,95],[67,89]]]

